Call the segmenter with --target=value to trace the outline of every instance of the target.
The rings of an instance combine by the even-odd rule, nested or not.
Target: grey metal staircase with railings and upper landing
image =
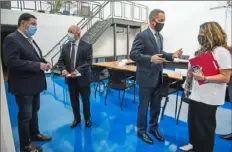
[[[133,10],[133,7],[138,7],[140,4],[132,3],[132,2],[120,2],[123,5],[131,5],[131,8]],[[141,24],[147,23],[147,15],[145,20],[142,19],[134,19],[133,14],[132,18],[128,19],[126,17],[115,16],[115,2],[109,2],[105,1],[103,2],[100,7],[96,6],[93,8],[93,13],[91,16],[87,18],[83,18],[77,25],[81,28],[81,39],[94,44],[98,38],[109,28],[110,26],[117,24],[117,25],[123,25],[124,27],[127,26],[136,26],[140,28]],[[141,9],[144,8],[147,12],[148,8],[146,6],[141,5]],[[105,12],[107,8],[110,8],[110,11],[108,11],[109,14],[106,14]],[[114,9],[113,9],[114,8]],[[124,6],[125,8],[125,6]],[[140,11],[141,13],[142,11]],[[124,11],[125,16],[125,11]],[[141,14],[140,14],[141,17]],[[51,61],[51,64],[53,68],[51,69],[52,74],[60,74],[60,70],[56,66],[56,63],[58,61],[58,58],[60,56],[60,52],[62,49],[62,46],[67,42],[67,35],[65,35],[45,56],[44,58],[48,61]]]

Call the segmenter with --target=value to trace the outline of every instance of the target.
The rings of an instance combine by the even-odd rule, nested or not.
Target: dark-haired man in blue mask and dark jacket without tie
[[[15,95],[19,108],[18,131],[21,152],[42,151],[31,141],[50,141],[40,134],[38,111],[40,92],[46,89],[44,70],[50,69],[39,46],[32,39],[37,30],[37,19],[29,13],[18,19],[18,29],[3,42],[3,58],[8,68],[9,92]]]

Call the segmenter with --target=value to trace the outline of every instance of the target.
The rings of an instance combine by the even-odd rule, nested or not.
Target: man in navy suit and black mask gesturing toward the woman
[[[136,81],[139,85],[139,100],[137,117],[137,135],[148,144],[153,140],[147,135],[147,112],[150,106],[150,133],[158,140],[164,138],[158,131],[161,95],[159,88],[162,85],[163,62],[172,61],[180,57],[181,50],[175,53],[163,51],[163,37],[160,34],[165,22],[164,11],[155,9],[149,15],[149,28],[136,35],[130,52],[130,58],[136,61]]]

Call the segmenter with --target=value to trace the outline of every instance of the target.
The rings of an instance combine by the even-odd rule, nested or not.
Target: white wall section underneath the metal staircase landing
[[[124,31],[123,31],[124,29]],[[116,55],[126,55],[127,54],[127,29],[116,27]],[[129,44],[130,49],[135,38],[136,33],[139,29],[130,29],[129,34]],[[122,33],[121,33],[122,32]],[[114,55],[114,36],[113,27],[109,27],[102,36],[93,45],[93,57],[108,57]]]

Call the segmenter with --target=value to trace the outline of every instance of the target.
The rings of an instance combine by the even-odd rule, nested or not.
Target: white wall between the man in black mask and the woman
[[[159,8],[166,13],[166,23],[162,34],[164,48],[173,52],[183,48],[184,54],[193,55],[198,49],[197,35],[199,26],[206,21],[217,21],[225,27],[225,9],[209,10],[221,6],[225,1],[136,1],[149,7],[148,13]],[[231,45],[231,9],[228,11],[226,33]]]

